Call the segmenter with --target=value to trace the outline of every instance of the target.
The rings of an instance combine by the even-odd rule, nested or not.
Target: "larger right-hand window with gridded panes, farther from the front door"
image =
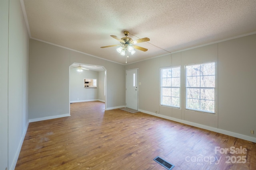
[[[186,109],[214,113],[215,63],[186,66]]]

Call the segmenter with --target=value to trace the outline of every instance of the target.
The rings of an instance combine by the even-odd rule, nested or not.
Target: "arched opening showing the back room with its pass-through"
[[[73,63],[70,65],[70,104],[74,102],[101,101],[105,103],[106,110],[106,99],[106,68],[104,68],[104,66],[97,66],[84,63]]]

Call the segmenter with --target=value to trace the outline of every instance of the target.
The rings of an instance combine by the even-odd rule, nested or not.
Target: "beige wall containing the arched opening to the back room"
[[[124,65],[30,39],[30,121],[69,115],[69,66],[104,66],[107,71],[107,109],[125,104]],[[118,80],[118,81],[117,81]]]

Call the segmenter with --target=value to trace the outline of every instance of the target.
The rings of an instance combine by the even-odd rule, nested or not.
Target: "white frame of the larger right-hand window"
[[[201,67],[201,65],[202,64],[210,64],[210,63],[214,63],[214,87],[187,87],[187,69],[186,69],[186,66],[193,66],[193,65],[200,65],[200,67]],[[185,104],[185,108],[187,109],[187,110],[194,110],[194,111],[200,111],[200,112],[205,112],[205,113],[211,113],[211,114],[216,114],[217,113],[217,96],[216,96],[216,94],[217,94],[217,92],[216,92],[216,90],[217,90],[217,87],[216,87],[216,85],[217,85],[217,78],[216,78],[216,76],[217,76],[217,67],[216,67],[216,65],[217,65],[217,63],[216,62],[208,62],[208,63],[198,63],[198,64],[190,64],[190,65],[186,65],[185,66],[185,101],[186,101],[186,104]],[[200,76],[202,76],[202,75],[200,75]],[[208,75],[208,76],[213,76],[213,75]],[[200,78],[201,79],[201,78]],[[199,90],[202,90],[202,89],[213,89],[214,90],[214,112],[212,112],[212,111],[206,111],[206,110],[202,110],[202,109],[193,109],[193,108],[189,108],[188,107],[188,95],[187,95],[187,92],[188,92],[188,89],[189,88],[193,88],[193,89],[199,89]],[[201,99],[201,96],[200,96],[200,98],[198,99],[200,102],[201,102],[201,100],[203,100],[203,99]],[[199,106],[200,106],[200,104],[199,104]]]

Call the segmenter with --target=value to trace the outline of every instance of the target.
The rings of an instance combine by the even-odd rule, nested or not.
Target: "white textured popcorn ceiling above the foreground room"
[[[256,31],[256,0],[21,0],[30,36],[125,64],[110,37],[147,48],[127,63]],[[26,18],[26,17],[25,17]]]

